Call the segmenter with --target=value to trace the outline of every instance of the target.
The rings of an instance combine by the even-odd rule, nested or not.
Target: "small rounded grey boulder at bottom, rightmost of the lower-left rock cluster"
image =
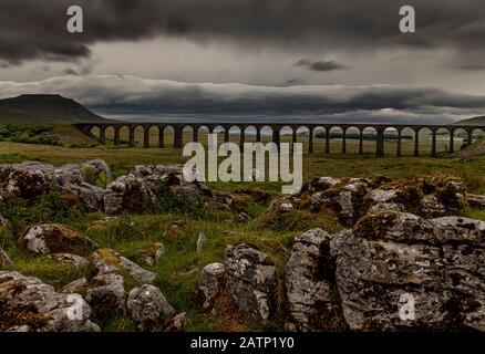
[[[176,315],[162,291],[148,284],[133,289],[126,306],[141,332],[163,331]]]

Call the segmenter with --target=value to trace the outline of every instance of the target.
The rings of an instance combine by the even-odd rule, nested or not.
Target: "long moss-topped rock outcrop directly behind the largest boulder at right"
[[[478,199],[471,200],[477,205]],[[421,176],[411,180],[390,180],[382,176],[320,177],[311,179],[299,192],[274,202],[267,214],[331,211],[338,214],[342,225],[352,227],[367,214],[395,210],[429,218],[452,216],[465,207],[465,185],[456,177]]]

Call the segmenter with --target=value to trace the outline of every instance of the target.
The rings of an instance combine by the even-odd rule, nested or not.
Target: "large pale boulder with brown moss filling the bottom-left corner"
[[[37,278],[0,271],[0,332],[99,332],[79,294],[58,293]]]

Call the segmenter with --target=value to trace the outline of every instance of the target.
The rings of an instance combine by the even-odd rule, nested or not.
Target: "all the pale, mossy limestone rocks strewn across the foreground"
[[[166,198],[225,209],[247,222],[241,195],[271,199],[261,190],[230,195],[186,183],[179,166],[137,166],[96,186],[106,177],[111,170],[102,160],[60,168],[2,165],[0,202],[55,190],[75,208],[116,216],[155,212]],[[466,207],[484,209],[485,197],[468,195],[453,177],[313,178],[300,192],[275,198],[261,220],[270,227],[292,214],[316,220],[334,215],[344,229],[303,232],[285,270],[254,246],[227,246],[224,263],[202,271],[194,301],[215,314],[230,302],[248,321],[281,323],[288,331],[485,331],[485,222],[460,217]],[[9,230],[9,220],[0,217],[0,226]],[[177,314],[152,284],[155,273],[84,235],[33,225],[17,244],[89,271],[58,292],[37,278],[0,271],[1,331],[99,331],[94,319],[113,313],[128,314],[138,331],[183,330],[186,314]],[[154,244],[146,266],[163,252],[163,244]],[[0,249],[1,267],[12,261]],[[127,277],[142,285],[126,291]]]

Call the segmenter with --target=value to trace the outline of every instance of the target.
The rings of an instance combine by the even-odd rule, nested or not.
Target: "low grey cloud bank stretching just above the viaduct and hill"
[[[414,121],[478,114],[485,96],[436,88],[379,86],[267,87],[244,84],[188,84],[134,76],[55,77],[32,83],[0,83],[0,97],[61,93],[99,112],[197,115],[312,115],[338,119],[411,117]],[[374,121],[375,122],[375,121]]]

